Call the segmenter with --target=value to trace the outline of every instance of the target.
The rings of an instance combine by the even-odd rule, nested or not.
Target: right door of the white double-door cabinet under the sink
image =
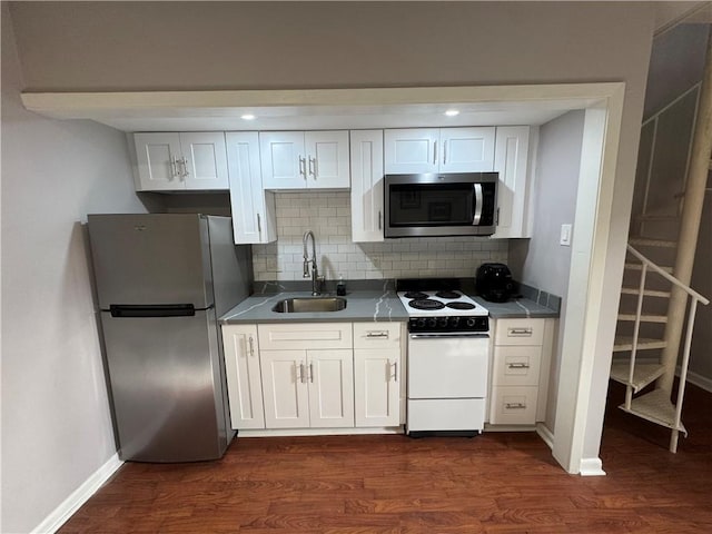
[[[354,353],[307,350],[312,427],[354,426]]]

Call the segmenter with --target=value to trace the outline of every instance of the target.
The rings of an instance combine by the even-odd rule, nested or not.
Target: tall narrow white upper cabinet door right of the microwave
[[[494,170],[497,185],[497,228],[494,238],[531,237],[527,161],[530,127],[497,128]]]

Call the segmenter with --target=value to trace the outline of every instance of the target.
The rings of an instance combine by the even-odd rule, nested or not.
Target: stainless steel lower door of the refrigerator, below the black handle
[[[101,313],[119,456],[219,458],[228,444],[215,310],[194,316]]]

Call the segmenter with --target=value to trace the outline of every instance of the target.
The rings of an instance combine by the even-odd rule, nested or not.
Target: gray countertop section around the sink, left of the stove
[[[334,297],[334,294],[323,294]],[[283,291],[277,294],[253,295],[219,318],[224,325],[245,323],[338,323],[338,322],[406,322],[408,314],[392,290],[347,291],[347,305],[338,312],[304,312],[284,314],[271,308],[285,298],[309,298],[308,291]]]

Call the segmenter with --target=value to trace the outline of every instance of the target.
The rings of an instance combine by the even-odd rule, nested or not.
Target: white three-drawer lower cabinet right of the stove
[[[554,319],[496,319],[490,424],[544,421]]]

